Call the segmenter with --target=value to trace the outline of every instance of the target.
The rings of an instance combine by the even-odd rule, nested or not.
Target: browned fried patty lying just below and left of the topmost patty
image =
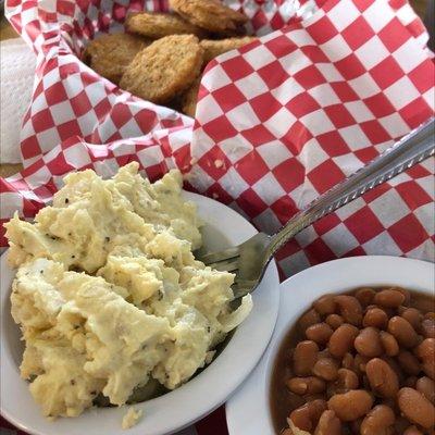
[[[151,39],[170,35],[196,35],[204,37],[206,32],[188,23],[178,15],[169,13],[136,12],[127,16],[125,27],[128,32]]]

